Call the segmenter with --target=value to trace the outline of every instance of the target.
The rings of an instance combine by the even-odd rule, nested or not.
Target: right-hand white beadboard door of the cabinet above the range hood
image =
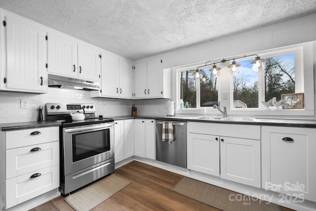
[[[101,52],[88,44],[78,43],[78,77],[86,80],[100,80]]]

